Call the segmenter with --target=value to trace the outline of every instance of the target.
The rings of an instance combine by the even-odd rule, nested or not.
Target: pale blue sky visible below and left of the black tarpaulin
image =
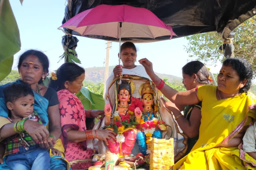
[[[61,37],[64,33],[57,30],[64,17],[66,0],[24,0],[23,5],[18,0],[10,0],[18,27],[20,30],[21,50],[14,56],[13,69],[17,69],[18,57],[28,49],[38,49],[49,57],[50,70],[56,70],[64,61],[59,63],[59,56],[63,53]],[[76,51],[82,66],[98,67],[104,65],[106,56],[106,41],[79,37]],[[166,40],[162,42],[137,43],[137,61],[148,58],[153,62],[154,71],[182,77],[181,68],[187,63],[187,52],[184,38]],[[109,65],[118,64],[119,43],[113,42],[110,49]],[[136,63],[139,64],[138,62]],[[210,66],[211,71],[217,73],[220,64]]]

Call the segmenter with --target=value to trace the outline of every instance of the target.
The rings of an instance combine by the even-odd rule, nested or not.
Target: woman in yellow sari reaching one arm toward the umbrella
[[[139,62],[153,81],[160,80],[154,74],[150,61],[141,59]],[[162,81],[156,84],[177,106],[202,101],[199,139],[173,169],[256,169],[256,161],[243,152],[240,144],[248,125],[256,119],[256,100],[247,94],[252,74],[248,61],[232,58],[223,62],[218,86],[203,85],[177,92]],[[175,105],[168,104],[177,109]]]

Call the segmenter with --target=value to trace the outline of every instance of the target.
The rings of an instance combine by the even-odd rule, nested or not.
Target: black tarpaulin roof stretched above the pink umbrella
[[[256,14],[256,0],[69,0],[62,24],[76,14],[100,4],[131,5],[152,11],[164,23],[172,26],[179,38],[188,35],[217,31],[224,39],[232,30]],[[65,29],[69,34],[77,32]],[[115,41],[109,37],[91,35],[92,38]],[[160,40],[168,40],[161,37]],[[127,38],[123,41],[150,42],[147,39]],[[159,41],[156,39],[156,41]]]

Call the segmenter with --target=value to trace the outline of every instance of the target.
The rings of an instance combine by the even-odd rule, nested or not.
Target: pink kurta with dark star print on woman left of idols
[[[63,134],[63,143],[65,147],[65,158],[68,161],[77,159],[89,159],[93,150],[86,150],[86,141],[68,142],[67,128],[72,130],[85,131],[85,111],[81,101],[68,90],[60,90],[57,92],[59,98],[60,121]]]

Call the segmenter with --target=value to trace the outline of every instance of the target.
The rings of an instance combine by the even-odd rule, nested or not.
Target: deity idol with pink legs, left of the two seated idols
[[[115,143],[108,140],[109,145],[107,147],[112,153],[124,153],[125,155],[129,155],[137,135],[136,123],[134,122],[133,116],[134,113],[129,109],[129,103],[132,98],[131,94],[134,92],[133,82],[131,80],[122,80],[122,84],[119,85],[117,92],[118,101],[116,102],[116,110],[113,113],[113,123],[105,119],[105,125],[107,125],[107,129],[111,129],[118,134]],[[106,117],[110,119],[112,112],[110,104],[105,105],[104,111]]]

